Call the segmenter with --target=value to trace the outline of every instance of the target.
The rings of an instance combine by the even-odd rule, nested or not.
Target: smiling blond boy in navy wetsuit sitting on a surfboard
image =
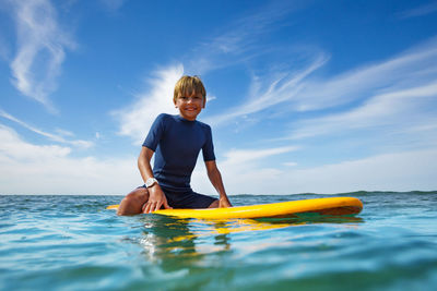
[[[162,207],[232,207],[215,163],[211,128],[196,120],[206,104],[202,81],[198,76],[182,76],[176,83],[173,101],[179,114],[162,113],[154,121],[138,158],[145,184],[121,201],[118,215],[149,214]],[[220,199],[191,190],[191,173],[200,149]],[[152,171],[151,159],[155,153]]]

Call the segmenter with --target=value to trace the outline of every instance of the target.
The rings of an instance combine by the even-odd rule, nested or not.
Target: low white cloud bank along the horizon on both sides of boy
[[[33,145],[0,125],[1,194],[118,194],[141,183],[135,157],[99,160],[73,158],[71,148]],[[228,194],[341,193],[358,190],[435,190],[437,150],[415,150],[308,169],[265,168],[262,159],[295,147],[232,150],[218,162]],[[23,183],[25,179],[26,183]],[[193,174],[196,191],[215,194],[204,168]]]

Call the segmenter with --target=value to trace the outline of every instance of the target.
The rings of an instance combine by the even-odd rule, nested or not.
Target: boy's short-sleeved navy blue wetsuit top
[[[173,192],[190,192],[191,173],[200,149],[203,160],[215,160],[210,125],[180,116],[160,114],[143,146],[155,151],[153,175]]]

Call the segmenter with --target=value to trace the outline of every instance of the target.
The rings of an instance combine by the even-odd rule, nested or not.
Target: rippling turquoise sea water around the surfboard
[[[241,195],[234,205],[328,195]],[[436,290],[437,192],[357,192],[356,217],[117,217],[119,196],[0,196],[1,290]]]

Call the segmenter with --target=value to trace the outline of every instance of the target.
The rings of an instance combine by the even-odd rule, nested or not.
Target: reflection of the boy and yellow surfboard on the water
[[[294,218],[202,220],[180,219],[168,216],[146,215],[140,244],[151,262],[158,263],[166,270],[175,270],[181,265],[196,266],[205,255],[218,255],[232,251],[231,233],[268,231],[293,228],[303,225],[356,223],[364,222],[353,216],[321,216],[306,214]]]

